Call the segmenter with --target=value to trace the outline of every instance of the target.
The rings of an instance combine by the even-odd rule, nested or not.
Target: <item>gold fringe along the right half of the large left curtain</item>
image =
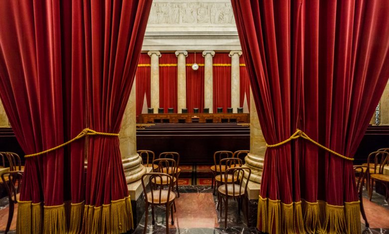
[[[134,229],[130,196],[100,207],[84,206],[84,233],[126,233]]]

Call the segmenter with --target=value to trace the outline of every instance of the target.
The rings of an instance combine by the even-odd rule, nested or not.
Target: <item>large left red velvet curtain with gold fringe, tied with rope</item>
[[[147,0],[0,2],[0,98],[26,154],[86,127],[119,132],[150,7]],[[118,137],[88,138],[86,179],[85,139],[26,159],[18,232],[130,229]]]

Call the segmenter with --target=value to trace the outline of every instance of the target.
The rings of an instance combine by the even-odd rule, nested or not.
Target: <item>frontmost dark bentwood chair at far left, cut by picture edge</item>
[[[22,171],[8,171],[1,175],[1,180],[5,186],[9,202],[8,221],[7,226],[5,227],[5,234],[8,233],[9,227],[12,223],[14,207],[17,201],[19,200],[19,192],[21,188],[22,179]]]

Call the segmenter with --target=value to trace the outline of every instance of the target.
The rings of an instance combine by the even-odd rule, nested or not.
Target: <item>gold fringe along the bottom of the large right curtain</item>
[[[275,234],[358,234],[360,202],[345,202],[345,206],[304,200],[284,204],[259,196],[257,228]]]

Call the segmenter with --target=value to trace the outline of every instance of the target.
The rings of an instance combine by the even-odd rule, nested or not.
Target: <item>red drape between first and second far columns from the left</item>
[[[160,108],[174,108],[177,113],[177,56],[161,53],[160,62]]]

